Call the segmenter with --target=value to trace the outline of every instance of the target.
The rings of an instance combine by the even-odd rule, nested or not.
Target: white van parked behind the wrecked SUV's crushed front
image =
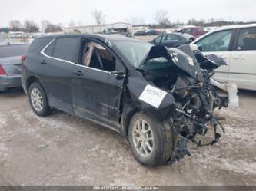
[[[216,54],[227,62],[216,70],[216,80],[256,91],[256,24],[221,27],[192,44],[204,55]]]

